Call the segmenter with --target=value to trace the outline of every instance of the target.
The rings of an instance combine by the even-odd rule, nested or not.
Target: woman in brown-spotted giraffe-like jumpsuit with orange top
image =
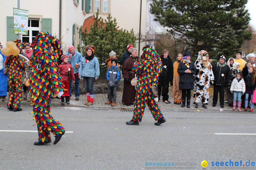
[[[182,91],[179,89],[179,73],[178,73],[178,66],[179,63],[182,61],[183,55],[179,53],[177,55],[177,61],[173,63],[173,99],[174,104],[181,103],[181,94]]]

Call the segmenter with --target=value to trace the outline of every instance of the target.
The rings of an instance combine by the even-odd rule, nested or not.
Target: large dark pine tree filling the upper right
[[[153,0],[151,13],[191,47],[191,53],[212,51],[220,33],[229,25],[237,35],[238,47],[251,38],[247,0]]]

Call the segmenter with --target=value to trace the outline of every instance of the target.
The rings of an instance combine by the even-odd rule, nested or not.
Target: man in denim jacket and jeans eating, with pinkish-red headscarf
[[[81,60],[82,60],[82,54],[77,52],[77,50],[75,50],[74,46],[69,45],[68,46],[68,52],[65,53],[68,56],[68,62],[71,64],[73,70],[74,70],[74,75],[75,75],[75,91],[76,91],[76,100],[79,100],[79,76],[78,76],[78,72],[79,72],[79,67],[81,66]],[[69,96],[71,97],[71,84],[72,84],[72,80],[70,80],[69,82]]]

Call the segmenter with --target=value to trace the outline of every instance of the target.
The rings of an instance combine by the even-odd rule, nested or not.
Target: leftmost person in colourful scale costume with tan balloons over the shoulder
[[[6,56],[4,64],[8,66],[9,100],[7,102],[7,109],[14,112],[22,111],[20,108],[22,82],[25,70],[27,69],[26,61],[28,59],[22,55],[23,43],[21,40],[8,41],[6,46],[1,52]]]

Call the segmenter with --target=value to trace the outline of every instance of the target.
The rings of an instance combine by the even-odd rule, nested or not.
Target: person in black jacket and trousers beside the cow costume
[[[220,92],[220,107],[224,108],[225,86],[228,86],[230,80],[230,68],[225,60],[225,56],[220,56],[219,62],[212,66],[212,72],[214,74],[212,107],[216,107],[218,102],[218,94]]]

